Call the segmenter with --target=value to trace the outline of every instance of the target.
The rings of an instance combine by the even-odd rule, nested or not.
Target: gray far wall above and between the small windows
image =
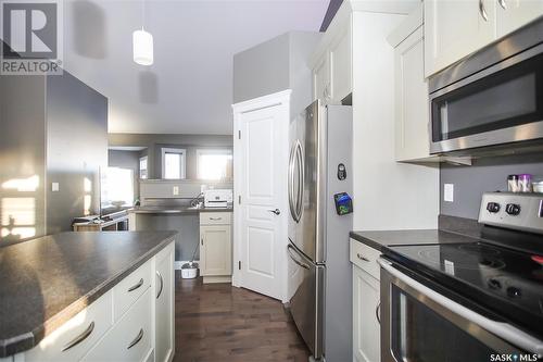
[[[195,150],[202,148],[231,149],[231,135],[161,135],[161,134],[110,134],[110,147],[146,147],[148,152],[149,178],[161,178],[163,147],[187,150],[187,173],[189,179],[197,177]]]

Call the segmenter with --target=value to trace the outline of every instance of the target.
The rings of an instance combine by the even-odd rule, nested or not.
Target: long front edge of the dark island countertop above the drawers
[[[16,353],[27,351],[36,346],[48,335],[53,333],[56,328],[74,317],[77,313],[89,307],[93,301],[98,300],[105,292],[111,290],[118,282],[128,276],[131,272],[144,264],[152,257],[157,254],[169,242],[175,241],[177,232],[168,232],[169,235],[159,242],[155,247],[151,248],[148,252],[134,262],[126,269],[119,271],[116,275],[103,280],[96,288],[75,300],[73,303],[64,308],[61,312],[56,313],[43,324],[37,326],[33,330],[13,336],[11,338],[0,340],[0,358],[10,357]],[[31,241],[31,240],[28,240]],[[47,334],[46,334],[47,330]]]

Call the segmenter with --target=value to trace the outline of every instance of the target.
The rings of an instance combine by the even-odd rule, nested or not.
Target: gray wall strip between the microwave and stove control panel
[[[543,176],[543,154],[518,154],[475,160],[471,166],[441,164],[441,214],[479,217],[484,191],[507,190],[507,175]],[[454,184],[454,202],[443,201],[443,185]]]

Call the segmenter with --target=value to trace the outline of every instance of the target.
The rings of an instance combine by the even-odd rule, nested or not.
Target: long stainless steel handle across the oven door
[[[453,313],[456,313],[463,317],[465,317],[468,321],[471,321],[472,323],[478,324],[482,328],[489,330],[490,333],[496,335],[500,338],[503,338],[507,342],[515,345],[519,348],[522,348],[529,352],[536,353],[538,355],[543,355],[543,341],[540,339],[536,339],[529,334],[525,333],[523,330],[520,330],[513,325],[505,323],[505,322],[496,322],[492,321],[477,312],[473,312],[472,310],[458,304],[457,302],[440,295],[439,292],[428,288],[427,286],[418,283],[417,280],[408,277],[404,273],[400,272],[397,269],[395,269],[391,262],[389,262],[386,259],[380,258],[378,260],[379,264],[381,267],[390,273],[392,276],[396,277],[397,279],[402,280],[413,289],[417,290],[418,292],[427,296],[431,300],[433,300],[435,303],[441,304],[443,308],[446,308],[447,310],[452,311]]]

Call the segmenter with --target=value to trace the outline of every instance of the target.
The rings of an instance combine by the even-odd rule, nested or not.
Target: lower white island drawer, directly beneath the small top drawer
[[[124,314],[81,361],[141,362],[151,352],[151,289]]]

